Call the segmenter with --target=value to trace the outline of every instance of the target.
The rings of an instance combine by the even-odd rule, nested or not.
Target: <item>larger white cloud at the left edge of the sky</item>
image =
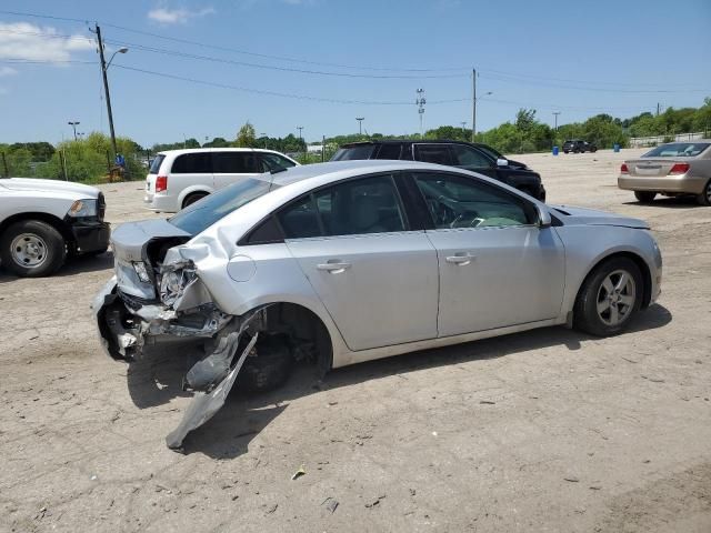
[[[0,59],[68,61],[72,52],[94,48],[93,40],[87,36],[77,33],[63,37],[50,27],[29,22],[0,22]]]

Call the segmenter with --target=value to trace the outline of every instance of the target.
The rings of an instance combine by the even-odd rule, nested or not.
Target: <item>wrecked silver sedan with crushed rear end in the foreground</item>
[[[648,230],[438,164],[294,167],[119,227],[93,310],[117,360],[201,346],[167,440],[180,447],[236,381],[279,385],[293,361],[328,371],[557,324],[620,333],[660,293]]]

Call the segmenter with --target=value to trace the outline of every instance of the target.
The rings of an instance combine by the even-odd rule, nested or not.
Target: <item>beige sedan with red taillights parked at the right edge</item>
[[[711,205],[711,140],[671,142],[624,161],[618,187],[634,191],[640,202],[657,194],[694,195],[701,205]]]

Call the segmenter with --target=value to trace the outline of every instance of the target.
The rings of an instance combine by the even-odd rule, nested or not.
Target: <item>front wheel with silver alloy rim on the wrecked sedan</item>
[[[642,274],[634,261],[612,258],[585,279],[573,308],[575,329],[595,336],[611,336],[627,329],[644,294]]]

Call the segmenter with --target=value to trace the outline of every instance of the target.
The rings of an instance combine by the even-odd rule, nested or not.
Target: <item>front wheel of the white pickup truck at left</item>
[[[64,238],[47,222],[17,222],[0,237],[2,265],[22,278],[49,275],[64,264],[66,258]]]

